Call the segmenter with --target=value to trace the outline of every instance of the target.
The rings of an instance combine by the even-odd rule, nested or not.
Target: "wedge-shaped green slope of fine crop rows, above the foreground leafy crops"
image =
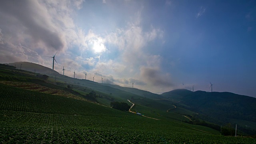
[[[0,109],[53,114],[125,114],[90,102],[15,88],[4,84],[0,84]]]

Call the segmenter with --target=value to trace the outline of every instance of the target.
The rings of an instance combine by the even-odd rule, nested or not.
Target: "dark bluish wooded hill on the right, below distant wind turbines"
[[[173,90],[161,94],[173,99],[177,106],[186,108],[199,115],[195,118],[219,125],[237,124],[247,134],[256,134],[256,98],[230,92],[204,92]]]

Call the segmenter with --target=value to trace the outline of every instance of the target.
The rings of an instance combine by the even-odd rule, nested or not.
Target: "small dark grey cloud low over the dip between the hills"
[[[155,68],[140,68],[140,74],[144,80],[153,86],[173,86],[168,76],[164,77],[160,74],[160,71]]]

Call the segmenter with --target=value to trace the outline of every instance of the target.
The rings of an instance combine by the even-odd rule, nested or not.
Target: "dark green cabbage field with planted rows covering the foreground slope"
[[[0,84],[0,143],[255,144],[91,102]]]

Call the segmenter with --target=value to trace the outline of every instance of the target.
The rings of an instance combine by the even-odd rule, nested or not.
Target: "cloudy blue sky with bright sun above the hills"
[[[70,77],[256,97],[256,0],[0,1],[0,63],[56,52]]]

